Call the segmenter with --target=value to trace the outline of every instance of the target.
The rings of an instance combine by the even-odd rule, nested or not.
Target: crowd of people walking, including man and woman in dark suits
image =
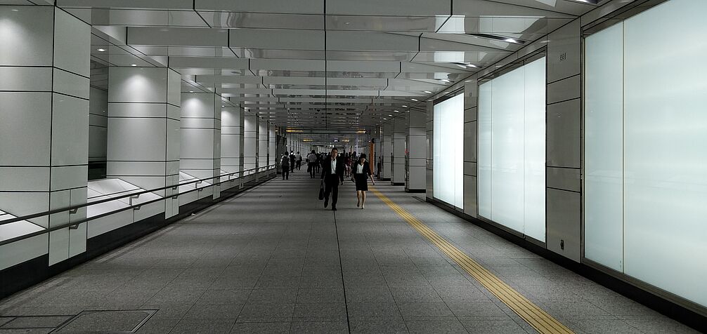
[[[302,166],[302,155],[293,151],[282,155],[282,179],[290,179],[290,173]],[[351,179],[356,184],[356,207],[365,208],[368,179],[375,185],[373,174],[366,159],[366,154],[356,152],[339,155],[339,150],[333,148],[329,154],[317,153],[314,150],[305,157],[307,172],[314,179],[321,171],[322,187],[324,188],[324,207],[329,206],[329,197],[332,198],[332,210],[337,210],[339,199],[339,184],[344,184],[344,179]]]

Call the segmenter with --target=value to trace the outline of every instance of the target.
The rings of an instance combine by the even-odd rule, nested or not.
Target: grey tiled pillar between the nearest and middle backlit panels
[[[548,35],[547,43],[547,249],[573,261],[581,254],[582,195],[576,183],[562,181],[581,167],[580,20]]]

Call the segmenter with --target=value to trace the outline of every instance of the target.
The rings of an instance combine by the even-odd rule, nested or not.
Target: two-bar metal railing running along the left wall
[[[128,198],[128,201],[129,201],[129,206],[127,206],[127,207],[125,207],[125,208],[119,208],[119,209],[117,209],[117,210],[112,210],[112,211],[107,212],[107,213],[101,213],[100,215],[95,215],[95,216],[93,216],[93,217],[86,217],[86,218],[83,218],[83,219],[81,219],[81,220],[76,220],[76,221],[74,221],[74,222],[67,222],[66,224],[48,227],[48,228],[42,229],[42,230],[37,231],[37,232],[32,232],[32,233],[28,233],[28,234],[23,234],[23,235],[18,236],[18,237],[14,237],[14,238],[11,238],[11,239],[3,240],[3,241],[0,241],[0,246],[6,245],[6,244],[12,244],[13,242],[21,241],[21,240],[24,240],[24,239],[29,239],[29,238],[31,238],[31,237],[37,237],[38,235],[46,234],[46,233],[49,233],[49,232],[52,232],[52,231],[57,231],[57,230],[59,230],[59,229],[65,229],[66,227],[75,227],[75,226],[78,226],[79,224],[81,224],[81,223],[83,223],[83,222],[90,222],[91,220],[96,220],[96,219],[98,219],[98,218],[106,217],[106,216],[109,216],[109,215],[113,215],[113,214],[115,214],[115,213],[119,213],[119,212],[122,212],[122,211],[131,210],[131,209],[132,209],[132,210],[140,210],[141,206],[143,206],[143,205],[148,205],[148,204],[151,204],[151,203],[156,203],[156,202],[159,202],[159,201],[164,201],[165,199],[168,199],[168,198],[176,199],[176,198],[179,198],[180,195],[184,195],[184,194],[187,194],[187,193],[191,193],[192,191],[203,191],[204,189],[209,188],[209,187],[211,187],[211,186],[219,186],[219,185],[224,184],[224,183],[226,183],[226,182],[235,181],[235,179],[240,179],[240,181],[241,181],[241,182],[240,182],[240,186],[243,186],[243,178],[244,178],[244,177],[255,174],[255,180],[257,181],[257,180],[259,179],[259,173],[261,173],[261,172],[267,172],[267,171],[270,171],[270,170],[271,170],[271,171],[275,171],[275,170],[276,170],[275,168],[276,168],[276,165],[269,165],[269,166],[267,166],[267,167],[257,167],[257,168],[245,169],[245,170],[240,171],[240,172],[232,172],[232,173],[228,173],[228,174],[221,174],[221,175],[218,175],[218,177],[209,177],[209,178],[206,178],[206,179],[195,179],[195,180],[193,180],[193,181],[188,181],[188,182],[184,182],[184,183],[179,183],[179,184],[175,184],[175,185],[172,185],[172,186],[163,186],[163,187],[160,187],[160,188],[149,189],[149,190],[145,190],[145,191],[139,191],[139,192],[136,192],[136,193],[127,193],[127,194],[122,195],[122,196],[117,196],[117,197],[112,197],[112,198],[105,198],[105,199],[99,200],[99,201],[87,202],[87,203],[78,204],[78,205],[71,205],[71,206],[66,207],[66,208],[48,210],[48,211],[44,211],[44,212],[41,212],[41,213],[33,213],[33,214],[31,214],[31,215],[24,215],[24,216],[22,216],[22,217],[15,217],[15,218],[11,218],[11,219],[1,220],[1,221],[0,221],[0,226],[1,226],[1,225],[11,224],[11,223],[13,223],[13,222],[21,222],[21,221],[23,221],[23,220],[30,220],[30,219],[37,218],[37,217],[44,217],[44,216],[47,216],[47,215],[53,215],[53,214],[55,214],[55,213],[63,213],[63,212],[66,212],[66,211],[68,211],[70,215],[71,215],[71,214],[76,214],[76,213],[78,212],[78,209],[80,209],[80,208],[86,208],[86,207],[88,207],[88,206],[90,206],[90,205],[98,205],[98,204],[101,204],[101,203],[107,203],[107,202],[111,202],[111,201],[118,201],[118,200],[120,200],[120,199],[122,199],[122,198]],[[247,174],[246,174],[246,173],[247,173]],[[233,175],[235,175],[235,174],[240,174],[240,176],[236,177],[235,179],[231,179],[231,177],[232,177]],[[226,181],[221,181],[221,178],[223,178],[223,177],[228,177],[228,179],[226,179]],[[211,183],[211,184],[209,184],[209,185],[201,186],[201,187],[195,186],[194,189],[189,189],[189,191],[183,191],[183,192],[180,192],[180,193],[177,193],[177,194],[174,194],[174,195],[170,195],[170,196],[163,196],[163,197],[160,197],[160,198],[156,198],[156,199],[154,199],[154,200],[151,200],[151,201],[146,201],[146,202],[139,203],[139,204],[135,204],[135,205],[132,204],[133,199],[139,198],[140,195],[145,194],[145,193],[155,193],[156,191],[163,191],[163,190],[167,190],[167,189],[172,189],[172,190],[175,190],[175,191],[179,191],[179,187],[180,187],[180,186],[185,186],[185,185],[188,185],[188,184],[195,184],[195,185],[198,185],[198,184],[203,183],[204,181],[209,181],[209,180],[214,180],[214,179],[218,179],[218,182],[214,182],[214,183]]]

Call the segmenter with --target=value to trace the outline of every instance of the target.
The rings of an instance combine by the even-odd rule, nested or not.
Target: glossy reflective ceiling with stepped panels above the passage
[[[93,26],[93,85],[107,85],[105,66],[170,66],[183,92],[296,129],[367,129],[424,108],[590,2],[56,0]]]

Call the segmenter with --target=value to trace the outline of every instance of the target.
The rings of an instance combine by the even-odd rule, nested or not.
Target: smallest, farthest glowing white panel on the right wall
[[[464,95],[434,106],[433,193],[464,208]]]

